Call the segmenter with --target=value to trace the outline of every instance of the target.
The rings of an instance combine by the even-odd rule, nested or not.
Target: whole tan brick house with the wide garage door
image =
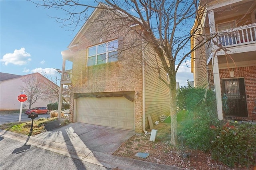
[[[169,88],[159,79],[168,82],[168,76],[140,36],[140,26],[120,17],[126,16],[99,8],[92,12],[61,52],[60,94],[63,85],[71,85],[71,122],[147,132],[149,116],[155,122],[170,114]],[[72,69],[65,69],[66,61]]]

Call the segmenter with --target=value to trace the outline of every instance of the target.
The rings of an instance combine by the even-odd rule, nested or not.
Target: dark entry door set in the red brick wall
[[[244,78],[223,79],[222,90],[228,97],[226,116],[248,117]]]

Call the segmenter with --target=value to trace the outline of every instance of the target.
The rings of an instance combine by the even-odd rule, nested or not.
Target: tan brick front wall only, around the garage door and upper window
[[[104,12],[106,13],[106,12]],[[72,70],[72,95],[70,121],[74,121],[74,93],[134,91],[142,94],[141,38],[131,31],[129,23],[111,20],[114,14],[101,14],[89,22],[75,51]],[[105,21],[104,21],[105,20]],[[107,21],[108,20],[108,21]],[[88,25],[87,24],[87,25]],[[88,47],[110,40],[123,38],[121,60],[87,67]],[[139,45],[140,44],[140,45]],[[135,131],[142,132],[142,95],[134,100]]]

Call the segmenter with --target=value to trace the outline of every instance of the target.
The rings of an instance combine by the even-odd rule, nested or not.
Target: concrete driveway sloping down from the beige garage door
[[[64,127],[48,130],[35,137],[92,151],[112,154],[135,134],[132,130],[70,123]]]

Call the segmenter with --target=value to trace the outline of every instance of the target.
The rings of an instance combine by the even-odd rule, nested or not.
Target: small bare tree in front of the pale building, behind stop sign
[[[22,82],[25,83],[21,86],[21,90],[24,90],[25,94],[28,96],[27,102],[29,103],[29,109],[36,103],[37,99],[42,99],[45,93],[44,81],[42,75],[39,73],[34,73],[26,75],[22,78]]]

